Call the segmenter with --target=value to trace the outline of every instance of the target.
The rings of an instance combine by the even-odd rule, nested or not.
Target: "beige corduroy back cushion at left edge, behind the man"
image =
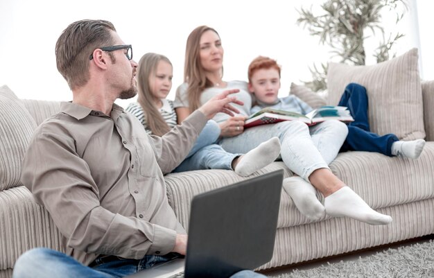
[[[35,128],[17,96],[0,87],[0,191],[21,185],[21,161]]]

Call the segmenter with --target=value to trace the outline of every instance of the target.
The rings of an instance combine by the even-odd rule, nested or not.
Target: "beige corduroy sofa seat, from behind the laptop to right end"
[[[273,162],[253,175],[261,175],[279,168],[285,170],[284,177],[293,175],[283,162]],[[340,153],[331,162],[330,168],[373,209],[434,198],[432,177],[426,174],[434,173],[434,142],[426,143],[419,159],[354,151]],[[168,202],[182,226],[187,228],[193,196],[244,179],[234,171],[200,170],[168,174],[164,180]],[[317,193],[317,197],[324,203],[321,194]],[[324,216],[321,220],[328,218],[330,216]],[[293,200],[282,190],[277,227],[293,227],[312,222],[300,214]]]

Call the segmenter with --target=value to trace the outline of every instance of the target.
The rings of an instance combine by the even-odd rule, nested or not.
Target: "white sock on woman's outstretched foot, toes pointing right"
[[[326,214],[329,216],[348,216],[371,225],[385,225],[392,222],[392,217],[371,209],[365,201],[344,186],[324,200]]]

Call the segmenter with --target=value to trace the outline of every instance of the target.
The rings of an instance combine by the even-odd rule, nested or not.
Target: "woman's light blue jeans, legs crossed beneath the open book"
[[[281,159],[304,180],[319,168],[329,168],[347,137],[347,125],[329,120],[309,128],[301,121],[282,121],[244,130],[236,137],[220,139],[220,145],[231,153],[247,153],[263,141],[279,137]]]

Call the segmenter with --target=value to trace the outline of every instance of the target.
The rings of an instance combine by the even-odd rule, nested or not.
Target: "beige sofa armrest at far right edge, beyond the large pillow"
[[[434,80],[422,82],[426,141],[434,141]]]

